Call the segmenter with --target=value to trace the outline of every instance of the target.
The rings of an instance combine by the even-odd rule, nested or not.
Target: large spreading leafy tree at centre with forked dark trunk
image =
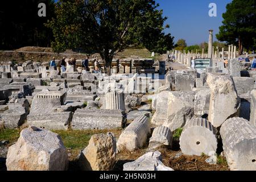
[[[55,52],[84,48],[100,53],[110,73],[113,56],[127,47],[143,44],[149,51],[164,53],[173,46],[165,35],[162,10],[152,0],[60,0],[52,28]]]

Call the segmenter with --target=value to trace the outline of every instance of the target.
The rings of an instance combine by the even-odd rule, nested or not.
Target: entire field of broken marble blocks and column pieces
[[[159,73],[165,75],[166,64],[160,62]],[[238,60],[230,59],[225,71],[171,70],[163,79],[150,75],[157,72],[153,65],[145,59],[115,60],[112,76],[73,67],[60,72],[32,61],[0,66],[0,123],[10,129],[29,126],[9,148],[7,169],[67,169],[63,143],[48,130],[122,128],[117,139],[111,133],[93,135],[80,154],[81,169],[112,170],[118,152],[148,147],[149,153],[123,169],[172,170],[156,150],[172,148],[174,133],[183,128],[183,154],[204,153],[215,164],[222,142],[230,169],[256,170],[255,73],[241,72]],[[41,161],[40,152],[46,156],[43,166],[34,163]]]

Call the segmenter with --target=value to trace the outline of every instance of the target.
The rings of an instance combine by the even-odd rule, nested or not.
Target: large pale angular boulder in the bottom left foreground
[[[63,171],[68,169],[68,152],[59,135],[30,127],[9,147],[8,171]]]

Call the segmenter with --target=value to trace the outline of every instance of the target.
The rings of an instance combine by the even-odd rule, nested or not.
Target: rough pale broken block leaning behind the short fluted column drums
[[[194,113],[195,92],[169,92],[167,119],[163,126],[175,131],[185,125]]]

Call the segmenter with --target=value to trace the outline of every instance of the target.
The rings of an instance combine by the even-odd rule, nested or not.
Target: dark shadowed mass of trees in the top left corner
[[[38,16],[39,3],[46,4],[46,17]],[[0,49],[51,46],[51,30],[44,26],[54,15],[54,0],[0,2]]]

